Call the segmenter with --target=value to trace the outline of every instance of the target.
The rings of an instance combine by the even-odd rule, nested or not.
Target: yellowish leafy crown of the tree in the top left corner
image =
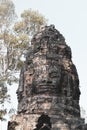
[[[0,27],[9,27],[15,16],[13,2],[10,0],[0,0]]]

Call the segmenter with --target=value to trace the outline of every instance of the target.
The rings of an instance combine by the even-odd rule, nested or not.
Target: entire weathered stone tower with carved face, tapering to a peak
[[[8,130],[87,130],[70,47],[54,25],[41,28],[20,73],[18,113]]]

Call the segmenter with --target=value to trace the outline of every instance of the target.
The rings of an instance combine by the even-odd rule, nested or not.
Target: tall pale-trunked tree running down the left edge
[[[9,95],[7,94],[8,79],[8,32],[10,32],[11,24],[15,19],[14,4],[10,0],[0,0],[0,107],[4,105]],[[0,109],[0,119],[6,114],[6,109]]]

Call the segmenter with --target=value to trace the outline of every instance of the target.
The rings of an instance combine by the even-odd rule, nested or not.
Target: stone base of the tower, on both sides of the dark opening
[[[36,125],[40,116],[40,114],[14,115],[11,122],[8,123],[8,130],[37,130]],[[51,128],[40,130],[87,130],[87,125],[84,124],[82,118],[59,115],[49,115],[49,118]]]

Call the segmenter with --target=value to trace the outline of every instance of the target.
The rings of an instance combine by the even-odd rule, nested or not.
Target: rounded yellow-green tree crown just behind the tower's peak
[[[38,11],[31,9],[25,10],[21,14],[21,19],[15,24],[14,30],[17,33],[26,33],[31,37],[40,30],[42,25],[46,25],[46,19]]]

